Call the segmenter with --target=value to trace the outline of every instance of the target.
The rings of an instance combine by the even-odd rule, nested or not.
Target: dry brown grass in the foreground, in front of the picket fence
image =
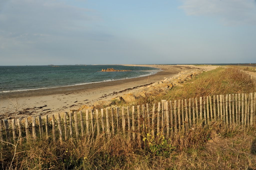
[[[193,129],[192,129],[193,128]],[[1,145],[2,169],[254,169],[255,127],[244,129],[219,121],[194,125],[166,140],[146,134],[141,147],[128,135],[111,140],[47,140]],[[145,139],[146,138],[146,139]],[[16,154],[14,152],[16,149]],[[255,150],[255,149],[254,149]],[[13,162],[12,162],[13,160]]]

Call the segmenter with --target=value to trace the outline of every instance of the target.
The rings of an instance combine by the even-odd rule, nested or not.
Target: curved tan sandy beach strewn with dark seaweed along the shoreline
[[[150,66],[161,69],[154,75],[117,80],[111,82],[93,83],[78,86],[40,89],[24,92],[2,93],[0,96],[0,118],[24,118],[52,113],[60,113],[78,109],[82,105],[91,106],[98,100],[110,100],[123,93],[136,90],[141,86],[171,77],[177,73],[200,68],[205,71],[216,66],[193,65],[127,65]]]

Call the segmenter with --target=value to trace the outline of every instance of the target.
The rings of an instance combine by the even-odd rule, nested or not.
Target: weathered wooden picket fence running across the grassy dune
[[[205,126],[216,120],[229,127],[240,125],[249,128],[256,123],[255,108],[256,93],[250,93],[64,112],[63,115],[46,115],[44,119],[38,116],[1,120],[0,141],[2,144],[34,140],[62,142],[124,134],[140,145],[142,135],[147,133],[153,139],[160,133],[169,139],[174,133],[188,130],[194,124]]]

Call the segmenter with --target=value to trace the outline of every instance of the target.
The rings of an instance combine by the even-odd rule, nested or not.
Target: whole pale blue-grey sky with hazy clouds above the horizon
[[[0,0],[0,65],[256,63],[255,0]]]

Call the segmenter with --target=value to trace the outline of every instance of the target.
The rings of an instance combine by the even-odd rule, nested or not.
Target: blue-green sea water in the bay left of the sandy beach
[[[101,72],[107,68],[131,71]],[[0,93],[121,80],[155,72],[152,67],[122,65],[0,66]]]

